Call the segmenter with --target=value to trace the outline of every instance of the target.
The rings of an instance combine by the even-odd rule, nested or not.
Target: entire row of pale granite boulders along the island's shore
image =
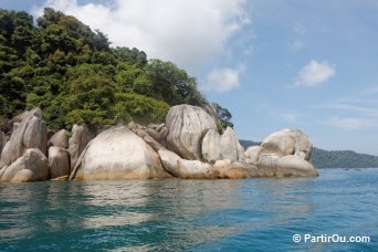
[[[86,125],[48,132],[35,108],[0,132],[0,180],[182,179],[317,176],[312,143],[298,129],[273,133],[245,151],[232,128],[190,105],[171,107],[166,123],[130,123],[96,134]]]

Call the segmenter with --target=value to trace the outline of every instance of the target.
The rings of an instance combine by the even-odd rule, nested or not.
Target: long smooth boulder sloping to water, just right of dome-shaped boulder
[[[167,149],[159,150],[158,153],[165,170],[177,178],[210,179],[214,177],[211,166],[207,162],[182,159]]]

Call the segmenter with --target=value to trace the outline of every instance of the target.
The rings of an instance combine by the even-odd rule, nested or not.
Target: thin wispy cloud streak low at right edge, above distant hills
[[[376,123],[371,118],[366,117],[330,117],[326,123],[333,127],[345,130],[358,130],[371,128]]]

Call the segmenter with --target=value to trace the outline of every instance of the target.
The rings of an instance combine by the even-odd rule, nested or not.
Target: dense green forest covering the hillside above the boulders
[[[174,63],[109,45],[101,31],[53,9],[36,25],[27,12],[0,9],[0,120],[38,106],[55,129],[154,123],[172,105],[207,104]]]

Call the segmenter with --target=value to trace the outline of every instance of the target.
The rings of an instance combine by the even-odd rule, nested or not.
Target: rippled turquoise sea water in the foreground
[[[0,183],[0,250],[378,251],[378,169],[319,174]],[[295,243],[296,233],[371,242]]]

